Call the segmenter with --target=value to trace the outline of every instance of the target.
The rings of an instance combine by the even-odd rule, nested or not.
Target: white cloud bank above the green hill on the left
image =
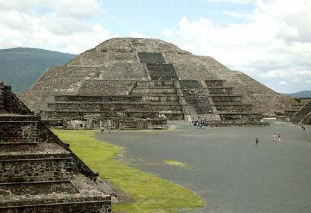
[[[78,54],[118,36],[87,22],[103,11],[95,0],[0,0],[0,5],[1,48],[31,44]]]

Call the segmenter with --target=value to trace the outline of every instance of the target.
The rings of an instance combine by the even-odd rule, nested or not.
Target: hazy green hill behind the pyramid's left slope
[[[77,55],[37,48],[0,50],[0,82],[13,93],[26,91],[50,66],[64,66]]]

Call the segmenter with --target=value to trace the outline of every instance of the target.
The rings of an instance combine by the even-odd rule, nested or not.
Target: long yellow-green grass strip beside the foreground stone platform
[[[114,204],[113,212],[181,212],[205,206],[205,201],[194,192],[114,160],[122,150],[96,140],[95,131],[53,129],[53,132],[64,142],[70,142],[70,149],[99,172],[100,178],[109,179],[136,201]]]

